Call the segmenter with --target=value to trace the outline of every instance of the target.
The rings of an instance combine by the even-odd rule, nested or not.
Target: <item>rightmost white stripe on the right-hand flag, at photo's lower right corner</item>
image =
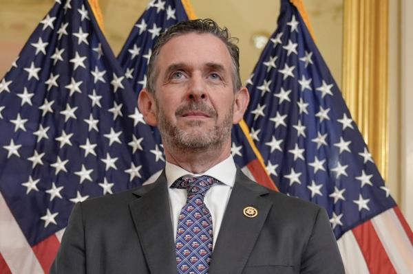
[[[372,224],[397,273],[413,273],[413,247],[393,209],[372,218]]]

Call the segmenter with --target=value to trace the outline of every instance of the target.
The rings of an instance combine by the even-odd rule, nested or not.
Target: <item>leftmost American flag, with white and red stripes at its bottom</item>
[[[74,203],[163,168],[131,98],[88,1],[56,0],[0,80],[0,273],[48,272]]]

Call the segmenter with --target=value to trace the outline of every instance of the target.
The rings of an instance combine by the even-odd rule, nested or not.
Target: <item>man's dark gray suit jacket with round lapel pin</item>
[[[246,218],[244,207],[258,210]],[[150,185],[77,203],[50,273],[176,273],[165,172]],[[209,274],[344,273],[324,209],[240,170]]]

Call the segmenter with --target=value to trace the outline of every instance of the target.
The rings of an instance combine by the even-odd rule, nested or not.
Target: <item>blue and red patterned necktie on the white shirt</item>
[[[204,204],[207,190],[218,182],[210,176],[180,178],[171,187],[187,189],[178,218],[176,263],[179,274],[207,274],[212,255],[212,218]]]

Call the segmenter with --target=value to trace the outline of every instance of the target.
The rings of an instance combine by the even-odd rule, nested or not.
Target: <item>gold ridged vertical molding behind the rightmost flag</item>
[[[384,179],[388,174],[388,0],[344,0],[343,96]]]

